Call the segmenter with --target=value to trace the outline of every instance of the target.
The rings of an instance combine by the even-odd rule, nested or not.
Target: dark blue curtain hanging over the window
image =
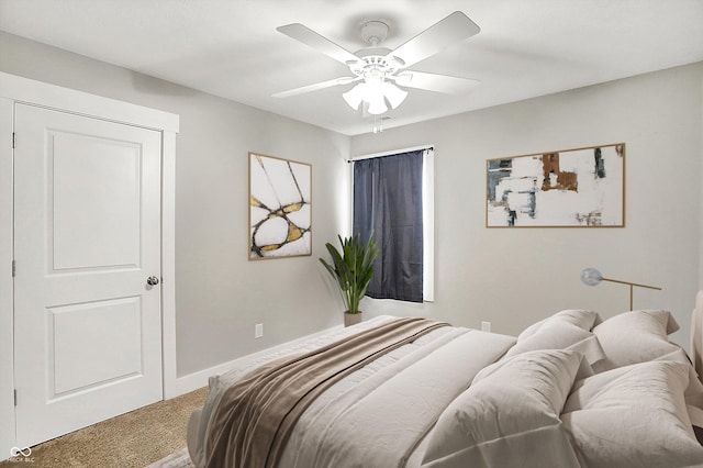
[[[380,249],[367,296],[423,300],[423,149],[354,163],[354,234]]]

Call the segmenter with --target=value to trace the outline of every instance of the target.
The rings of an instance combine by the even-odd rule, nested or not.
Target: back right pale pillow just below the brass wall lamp
[[[685,352],[667,337],[677,330],[679,324],[670,312],[663,310],[638,310],[615,315],[593,328],[605,352],[605,359],[594,366],[594,370],[655,359],[688,364]]]

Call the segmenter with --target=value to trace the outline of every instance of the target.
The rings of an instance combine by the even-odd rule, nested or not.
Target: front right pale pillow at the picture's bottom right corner
[[[689,367],[641,363],[577,382],[561,420],[581,466],[703,466],[684,401]]]

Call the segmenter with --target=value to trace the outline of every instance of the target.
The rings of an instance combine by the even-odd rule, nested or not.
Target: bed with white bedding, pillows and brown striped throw
[[[663,310],[565,310],[518,336],[383,315],[212,377],[188,449],[208,468],[703,467],[678,327]]]

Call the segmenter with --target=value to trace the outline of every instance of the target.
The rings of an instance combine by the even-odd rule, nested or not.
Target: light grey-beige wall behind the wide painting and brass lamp
[[[436,302],[401,310],[516,334],[567,308],[603,317],[629,307],[628,288],[580,282],[596,267],[655,285],[635,309],[671,310],[688,347],[701,286],[703,64],[359,135],[354,156],[425,143],[436,152]],[[471,99],[468,97],[467,99]],[[625,142],[626,227],[486,229],[486,159]],[[366,299],[372,314],[392,301]]]

